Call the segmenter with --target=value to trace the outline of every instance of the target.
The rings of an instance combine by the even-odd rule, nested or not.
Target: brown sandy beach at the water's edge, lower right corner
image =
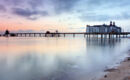
[[[130,53],[130,50],[129,50]],[[117,68],[107,69],[108,72],[99,80],[130,80],[130,57],[127,57]]]

